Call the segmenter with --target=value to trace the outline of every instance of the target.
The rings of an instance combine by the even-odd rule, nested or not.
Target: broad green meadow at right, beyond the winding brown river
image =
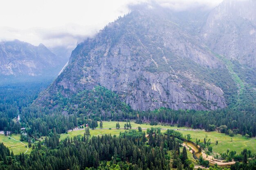
[[[211,139],[211,147],[213,148],[213,152],[223,153],[226,152],[227,149],[234,150],[236,152],[241,152],[243,149],[247,148],[247,150],[251,150],[253,153],[256,153],[256,139],[249,138],[246,139],[242,135],[235,135],[231,137],[229,135],[225,135],[223,133],[218,132],[205,132],[205,131],[179,131],[183,135],[190,134],[192,137],[192,141],[195,142],[196,138],[200,139],[200,141],[204,141],[205,135],[207,135],[207,140]],[[216,141],[218,140],[218,145],[216,145]]]

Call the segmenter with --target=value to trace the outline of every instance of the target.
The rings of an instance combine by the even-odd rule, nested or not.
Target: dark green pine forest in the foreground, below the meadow
[[[55,132],[44,142],[33,146],[30,155],[13,155],[0,144],[0,168],[6,170],[170,170],[177,168],[193,170],[186,148],[181,148],[182,136],[168,130],[165,134],[160,129],[151,129],[148,139],[145,132],[130,130],[119,137],[111,135],[66,138],[59,141]],[[182,152],[181,152],[182,149]],[[231,170],[254,170],[256,161],[249,160],[245,151],[243,163],[236,163]],[[171,161],[170,161],[171,160]],[[249,160],[249,162],[248,162]],[[202,158],[202,165],[209,162]],[[200,169],[200,168],[199,168]],[[218,170],[218,168],[214,168]],[[225,168],[226,169],[226,168]]]

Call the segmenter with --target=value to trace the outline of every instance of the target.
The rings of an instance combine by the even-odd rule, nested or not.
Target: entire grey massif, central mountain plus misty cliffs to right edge
[[[247,12],[245,4],[226,0],[212,11],[135,9],[79,44],[36,103],[58,105],[57,94],[71,97],[99,85],[134,110],[225,108],[242,88],[255,87],[256,34],[249,17],[255,2]]]

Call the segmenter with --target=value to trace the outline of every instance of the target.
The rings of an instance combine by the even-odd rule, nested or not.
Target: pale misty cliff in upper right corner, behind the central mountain
[[[224,0],[202,29],[202,39],[215,53],[256,68],[256,1]]]

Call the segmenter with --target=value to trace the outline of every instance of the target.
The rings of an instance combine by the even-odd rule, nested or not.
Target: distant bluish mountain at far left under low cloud
[[[33,46],[19,40],[0,42],[0,77],[3,81],[53,78],[65,62],[43,44]]]

